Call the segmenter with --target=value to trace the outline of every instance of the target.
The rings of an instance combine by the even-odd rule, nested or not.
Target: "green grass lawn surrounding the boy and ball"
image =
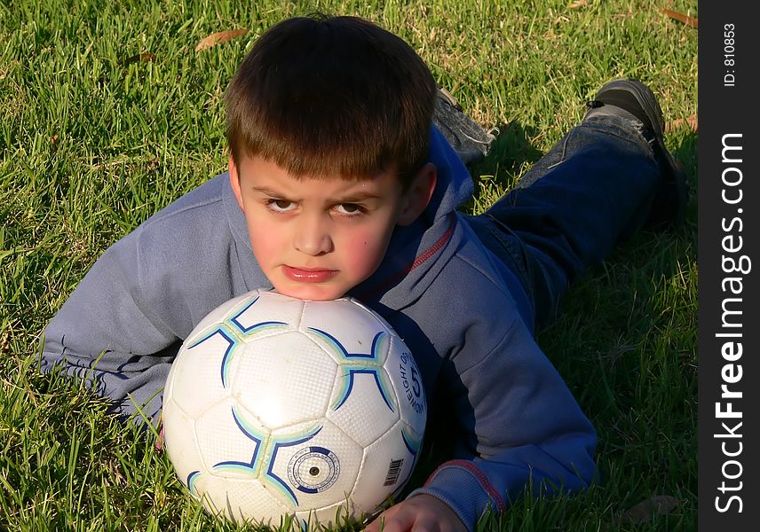
[[[226,530],[165,455],[65,379],[36,372],[37,338],[99,254],[226,168],[223,93],[263,28],[313,8],[408,40],[464,109],[500,135],[473,168],[479,211],[579,121],[603,82],[632,76],[667,121],[696,112],[696,0],[380,0],[237,3],[20,0],[0,4],[0,529]],[[244,7],[243,7],[244,6]],[[206,35],[249,33],[205,51]],[[137,54],[154,60],[132,60]],[[696,134],[669,148],[696,190]],[[603,482],[525,498],[483,529],[696,528],[696,200],[672,233],[620,246],[540,334],[598,428]],[[629,524],[647,497],[668,515]]]

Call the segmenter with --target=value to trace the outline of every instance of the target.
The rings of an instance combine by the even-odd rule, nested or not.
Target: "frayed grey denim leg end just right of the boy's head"
[[[482,160],[495,139],[492,133],[463,113],[455,98],[443,88],[438,90],[432,121],[465,165]]]

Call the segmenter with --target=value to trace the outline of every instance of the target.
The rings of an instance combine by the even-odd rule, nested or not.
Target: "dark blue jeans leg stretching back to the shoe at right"
[[[567,287],[649,215],[661,171],[641,124],[597,115],[572,129],[473,230],[514,271],[535,325],[558,316]]]

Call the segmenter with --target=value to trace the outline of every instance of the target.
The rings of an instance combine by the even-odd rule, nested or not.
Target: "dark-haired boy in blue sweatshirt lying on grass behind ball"
[[[404,338],[449,461],[369,529],[471,530],[528,486],[582,489],[596,435],[533,337],[568,282],[644,224],[683,217],[651,91],[619,80],[487,213],[431,126],[431,73],[350,17],[270,28],[226,94],[229,171],[111,246],[45,330],[44,365],[157,417],[178,343],[257,287],[344,294]]]

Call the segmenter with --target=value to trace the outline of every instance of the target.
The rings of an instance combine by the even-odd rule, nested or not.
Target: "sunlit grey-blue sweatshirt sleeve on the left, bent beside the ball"
[[[41,367],[62,365],[85,379],[117,414],[129,416],[139,406],[153,418],[178,335],[147,303],[142,274],[138,230],[99,257],[46,326]]]

